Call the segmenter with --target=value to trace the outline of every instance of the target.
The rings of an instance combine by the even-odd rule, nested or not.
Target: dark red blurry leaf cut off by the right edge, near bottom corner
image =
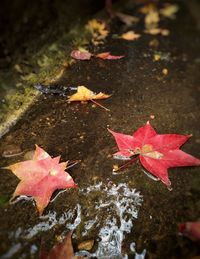
[[[193,241],[200,242],[200,221],[180,223],[179,232]]]

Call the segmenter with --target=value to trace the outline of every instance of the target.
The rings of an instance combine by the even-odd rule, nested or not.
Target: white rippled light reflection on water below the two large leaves
[[[10,238],[15,240],[13,247],[6,253],[13,256],[13,251],[16,253],[21,249],[20,240],[24,240],[28,245],[28,240],[35,236],[41,235],[41,232],[47,232],[55,226],[63,226],[62,236],[64,237],[68,230],[75,230],[80,223],[83,225],[82,236],[87,236],[91,230],[98,229],[96,240],[99,240],[97,249],[94,253],[87,251],[79,251],[76,255],[86,255],[88,257],[97,258],[128,258],[127,254],[122,253],[122,242],[125,239],[126,233],[130,233],[134,220],[138,217],[138,211],[142,204],[142,195],[135,189],[131,189],[125,183],[118,185],[109,184],[105,186],[103,183],[98,183],[90,187],[79,190],[82,199],[75,208],[69,209],[58,216],[57,213],[50,212],[47,215],[39,218],[40,222],[28,229],[18,228],[17,231],[10,233]],[[101,195],[102,194],[102,195]],[[85,201],[90,200],[97,195],[99,197],[95,202],[92,201],[93,208],[88,208],[86,215],[83,213]],[[93,217],[92,212],[95,217]],[[103,215],[103,217],[102,217]],[[76,231],[74,231],[75,237]],[[134,240],[132,240],[134,241]],[[21,244],[21,245],[20,245]],[[24,244],[23,244],[24,245]],[[18,249],[16,249],[16,247]],[[15,249],[14,249],[15,248]],[[34,249],[30,248],[30,254],[37,251],[37,246]],[[133,251],[133,245],[130,251],[139,256],[136,251]],[[145,252],[141,254],[144,258]]]

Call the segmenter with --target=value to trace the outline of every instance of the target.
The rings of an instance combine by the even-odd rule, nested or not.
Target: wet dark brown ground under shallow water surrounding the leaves
[[[155,119],[151,123],[159,133],[192,133],[193,137],[183,150],[199,157],[200,32],[184,4],[180,4],[176,20],[165,20],[163,26],[170,29],[170,36],[146,35],[142,33],[143,27],[139,23],[133,27],[142,33],[137,41],[126,42],[109,37],[105,45],[96,51],[111,51],[116,55],[125,55],[124,59],[76,62],[58,82],[65,86],[85,85],[96,92],[112,94],[110,99],[101,102],[110,112],[94,107],[92,103],[68,104],[67,97],[43,95],[1,139],[1,152],[13,145],[20,146],[26,153],[34,149],[34,144],[38,144],[52,156],[61,155],[63,161],[81,160],[78,166],[70,170],[79,189],[60,194],[44,212],[47,215],[56,211],[56,217],[60,218],[64,211],[81,204],[81,223],[74,230],[73,239],[76,251],[77,245],[87,239],[95,240],[95,251],[99,242],[98,232],[104,224],[106,213],[115,213],[114,209],[111,212],[95,210],[95,204],[104,200],[106,194],[103,190],[93,196],[83,195],[85,188],[102,182],[103,186],[125,183],[143,196],[138,218],[122,243],[123,254],[130,254],[129,257],[134,258],[129,249],[134,241],[137,251],[147,250],[146,258],[196,258],[200,255],[199,246],[178,235],[177,228],[179,222],[199,219],[199,168],[170,169],[171,192],[161,182],[148,178],[137,163],[121,174],[112,173],[112,165],[116,161],[111,155],[116,152],[116,146],[107,128],[131,134],[151,120],[152,114]],[[112,33],[120,34],[125,30],[118,21],[112,22]],[[160,43],[156,50],[149,47],[153,38]],[[161,52],[165,59],[154,61],[155,51]],[[162,74],[164,68],[168,69],[168,75]],[[1,165],[23,159],[24,154],[12,158],[1,157]],[[2,170],[1,199],[9,198],[18,182],[11,172]],[[22,244],[10,258],[37,258],[41,239],[50,249],[55,242],[55,235],[66,231],[63,224],[55,224],[49,230],[25,238],[23,230],[33,228],[42,220],[33,203],[20,200],[12,205],[2,204],[0,250],[5,254],[14,245]],[[83,236],[84,221],[88,215],[91,218],[98,215],[100,224]],[[21,232],[17,234],[19,229]]]

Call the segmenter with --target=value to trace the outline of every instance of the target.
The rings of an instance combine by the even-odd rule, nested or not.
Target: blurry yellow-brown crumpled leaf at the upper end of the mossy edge
[[[107,24],[104,21],[96,19],[90,20],[86,25],[86,29],[91,33],[94,45],[102,43],[102,40],[104,40],[109,34]]]

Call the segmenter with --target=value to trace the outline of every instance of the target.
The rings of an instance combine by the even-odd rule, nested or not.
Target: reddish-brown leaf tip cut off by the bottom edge
[[[87,257],[75,256],[74,249],[71,240],[72,232],[63,239],[63,241],[57,243],[47,255],[45,251],[41,250],[40,259],[82,259]]]

